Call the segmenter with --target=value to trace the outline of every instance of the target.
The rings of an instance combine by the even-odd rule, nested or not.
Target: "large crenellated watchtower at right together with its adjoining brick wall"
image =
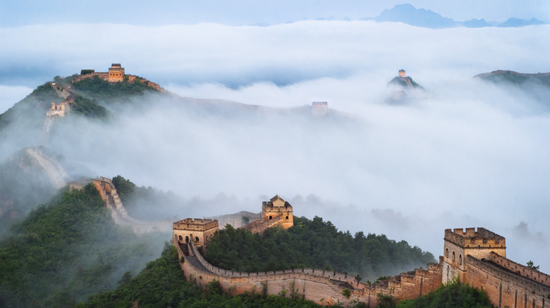
[[[484,228],[445,230],[443,282],[483,288],[496,307],[550,307],[550,276],[506,259],[506,239]]]

